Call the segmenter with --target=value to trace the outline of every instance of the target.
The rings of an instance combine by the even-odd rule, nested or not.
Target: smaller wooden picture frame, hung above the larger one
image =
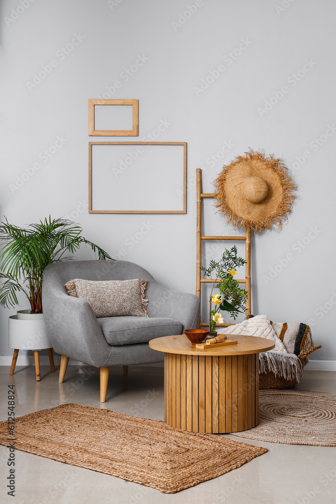
[[[132,130],[95,130],[95,105],[132,105]],[[139,135],[139,100],[94,100],[89,99],[89,136],[90,137],[138,137]]]

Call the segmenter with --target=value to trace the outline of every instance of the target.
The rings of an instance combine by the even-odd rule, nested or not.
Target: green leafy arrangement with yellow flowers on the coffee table
[[[221,311],[227,311],[230,317],[236,320],[238,313],[245,312],[247,292],[239,287],[239,282],[233,277],[237,274],[236,268],[246,264],[245,259],[238,257],[237,247],[225,249],[221,259],[210,261],[209,268],[201,267],[204,275],[214,278],[210,294],[209,327],[211,333],[216,332],[216,324],[223,324]],[[215,272],[215,275],[213,273]],[[213,294],[214,288],[219,289],[219,294]],[[213,304],[215,307],[213,308]]]

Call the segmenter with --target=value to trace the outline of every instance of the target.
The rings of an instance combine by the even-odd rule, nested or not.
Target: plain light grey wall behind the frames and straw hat
[[[1,9],[1,214],[21,225],[68,215],[111,254],[123,248],[125,260],[162,284],[194,292],[195,170],[203,168],[203,190],[211,192],[223,164],[248,147],[264,148],[294,167],[300,199],[281,233],[253,237],[252,310],[309,322],[323,345],[313,358],[336,360],[336,4],[4,0]],[[78,45],[69,52],[72,40]],[[29,84],[50,60],[50,73]],[[118,140],[88,137],[87,102],[98,97],[140,100],[139,137],[120,140],[142,140],[163,121],[156,141],[188,143],[186,215],[89,215],[88,142]],[[56,152],[44,157],[58,137]],[[224,233],[210,202],[206,214],[205,233]],[[208,261],[219,253],[204,250]],[[79,257],[93,258],[88,250]],[[11,354],[7,317],[14,312],[0,311],[1,355]]]

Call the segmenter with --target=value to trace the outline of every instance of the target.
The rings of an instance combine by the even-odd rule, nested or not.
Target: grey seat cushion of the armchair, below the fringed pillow
[[[148,343],[153,338],[182,333],[182,324],[165,317],[104,317],[97,319],[109,345]]]

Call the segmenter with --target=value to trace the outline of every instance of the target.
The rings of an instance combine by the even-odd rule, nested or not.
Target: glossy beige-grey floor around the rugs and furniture
[[[0,420],[7,416],[7,387],[15,383],[16,415],[74,402],[107,408],[155,420],[163,419],[163,368],[121,367],[110,371],[107,402],[99,402],[99,370],[69,366],[64,384],[58,384],[58,369],[50,373],[41,367],[42,380],[35,381],[33,367],[0,367]],[[301,390],[336,393],[336,372],[305,371]],[[151,391],[149,395],[148,392]],[[147,397],[147,399],[146,399]],[[148,398],[151,398],[150,400]],[[234,438],[233,436],[229,436]],[[240,442],[245,439],[236,437]],[[0,502],[16,504],[335,504],[336,448],[259,443],[269,451],[248,464],[219,478],[176,494],[162,494],[152,488],[113,476],[70,466],[28,453],[16,452],[16,497],[7,495],[8,449],[0,446]]]

